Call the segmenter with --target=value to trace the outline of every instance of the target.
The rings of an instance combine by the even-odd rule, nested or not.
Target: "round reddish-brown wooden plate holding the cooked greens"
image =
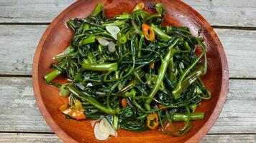
[[[50,69],[50,65],[54,62],[52,56],[63,51],[73,36],[73,31],[68,28],[66,21],[76,17],[88,16],[98,2],[93,0],[76,1],[68,9],[65,9],[48,26],[35,52],[32,79],[38,107],[47,124],[49,124],[58,137],[68,143],[100,141],[97,141],[94,137],[91,120],[78,122],[65,119],[63,114],[58,111],[60,105],[63,104],[58,88],[47,85],[43,77],[49,71],[52,71]],[[142,1],[101,1],[104,4],[104,11],[108,17],[122,14],[123,12],[131,13],[134,6],[139,2]],[[143,2],[145,3],[146,10],[155,3],[155,1]],[[201,36],[204,36],[208,57],[207,74],[202,79],[207,89],[211,91],[212,98],[203,101],[201,106],[196,109],[196,112],[205,112],[205,117],[204,119],[193,121],[192,129],[183,137],[172,137],[157,129],[146,132],[129,132],[120,129],[118,137],[111,137],[104,142],[198,142],[214,125],[224,105],[229,81],[228,66],[224,49],[214,30],[198,12],[182,1],[160,0],[160,2],[167,9],[165,24],[188,26],[195,36],[199,29],[202,30]],[[58,77],[54,82],[63,83],[65,80],[65,77]]]

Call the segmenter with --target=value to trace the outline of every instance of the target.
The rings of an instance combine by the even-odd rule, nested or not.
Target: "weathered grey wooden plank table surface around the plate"
[[[214,27],[229,63],[229,93],[201,142],[256,142],[256,1],[184,0]],[[62,142],[40,114],[32,59],[52,19],[74,0],[0,0],[0,142]]]

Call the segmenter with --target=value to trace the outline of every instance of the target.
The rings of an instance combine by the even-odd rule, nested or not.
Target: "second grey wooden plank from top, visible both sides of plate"
[[[0,25],[0,74],[31,75],[35,49],[46,27]],[[230,77],[256,78],[256,31],[215,30],[227,54]]]

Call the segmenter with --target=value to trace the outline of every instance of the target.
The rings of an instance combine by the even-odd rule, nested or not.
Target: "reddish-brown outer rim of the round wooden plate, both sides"
[[[38,63],[40,60],[40,53],[42,51],[42,47],[45,44],[45,40],[47,39],[48,34],[50,34],[50,31],[53,27],[58,23],[58,21],[65,16],[70,10],[76,8],[80,4],[81,1],[76,1],[75,3],[68,6],[67,9],[62,11],[53,21],[52,23],[47,27],[44,34],[42,35],[42,38],[40,39],[39,44],[37,45],[37,49],[35,51],[35,56],[33,60],[33,66],[32,66],[32,84],[33,84],[33,90],[35,94],[35,99],[37,101],[37,106],[40,109],[40,112],[42,114],[42,117],[45,119],[47,124],[49,124],[50,128],[52,129],[55,134],[60,137],[60,139],[63,139],[64,142],[76,142],[72,137],[70,137],[68,134],[66,134],[59,126],[58,124],[50,117],[50,113],[45,107],[44,102],[42,102],[42,97],[40,94],[40,88],[39,88],[39,82],[38,82]],[[206,26],[208,31],[211,33],[211,35],[214,37],[214,42],[217,44],[219,56],[221,59],[221,68],[222,68],[222,81],[221,81],[221,90],[219,94],[218,102],[216,103],[216,107],[214,108],[214,111],[211,114],[211,117],[209,117],[208,121],[204,124],[201,129],[196,132],[190,139],[188,139],[187,142],[198,142],[200,141],[207,132],[213,127],[214,123],[216,122],[216,119],[218,119],[219,114],[221,113],[221,110],[224,106],[224,102],[227,98],[227,91],[229,86],[229,67],[227,64],[227,57],[225,55],[223,46],[221,45],[221,42],[219,41],[219,37],[216,35],[214,29],[211,27],[211,25],[204,19],[201,14],[199,14],[195,9],[193,9],[191,6],[188,6],[188,4],[185,4],[183,1],[179,1],[181,5],[186,6],[188,9],[192,11],[193,14],[196,14],[200,21]]]

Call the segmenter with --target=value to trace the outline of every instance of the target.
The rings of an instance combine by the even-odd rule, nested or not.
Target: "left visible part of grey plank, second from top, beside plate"
[[[0,26],[0,74],[31,75],[37,43],[47,26]]]

